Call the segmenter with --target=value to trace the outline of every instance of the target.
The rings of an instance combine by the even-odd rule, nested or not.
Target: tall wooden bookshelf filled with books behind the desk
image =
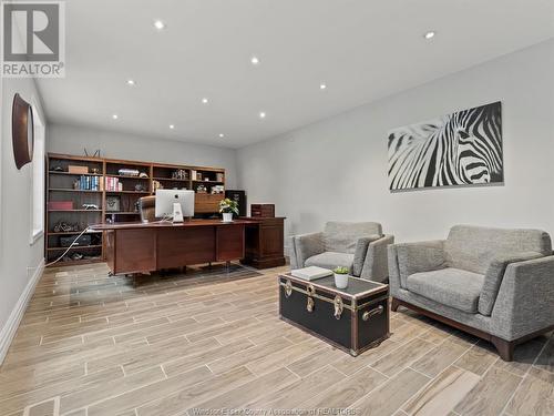
[[[75,169],[79,173],[73,173]],[[212,215],[218,212],[219,201],[225,197],[225,170],[49,153],[47,263],[66,250],[61,244],[63,237],[76,236],[89,225],[140,221],[138,199],[155,194],[156,189],[194,190],[195,216]],[[65,226],[60,226],[62,223]],[[86,242],[90,236],[90,244],[73,246],[58,265],[105,260],[103,233],[85,235]]]

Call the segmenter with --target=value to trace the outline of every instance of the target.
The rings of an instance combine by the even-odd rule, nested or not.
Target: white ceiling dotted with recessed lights
[[[552,38],[554,1],[68,0],[65,20],[51,122],[239,148]]]

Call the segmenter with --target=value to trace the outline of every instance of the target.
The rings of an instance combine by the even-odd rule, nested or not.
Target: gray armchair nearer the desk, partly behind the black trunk
[[[383,235],[381,224],[328,222],[320,233],[289,239],[290,267],[319,266],[350,268],[353,276],[383,282],[388,276],[387,246],[392,235]]]

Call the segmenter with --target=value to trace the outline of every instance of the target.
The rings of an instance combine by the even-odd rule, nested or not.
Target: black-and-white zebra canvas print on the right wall
[[[504,182],[500,101],[388,135],[391,191]]]

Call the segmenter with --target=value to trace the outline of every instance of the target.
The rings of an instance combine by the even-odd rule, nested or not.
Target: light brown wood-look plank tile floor
[[[283,270],[137,287],[105,264],[47,270],[0,369],[0,415],[554,415],[552,334],[504,363],[400,310],[392,336],[353,358],[278,319]]]

